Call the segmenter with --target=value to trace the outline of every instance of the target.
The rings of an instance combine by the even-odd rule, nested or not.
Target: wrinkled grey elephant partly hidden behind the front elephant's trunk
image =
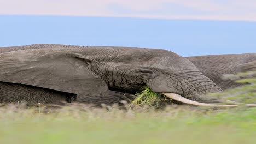
[[[196,65],[203,75],[209,77],[223,90],[241,86],[229,79],[224,79],[224,74],[237,74],[256,70],[256,53],[209,55],[186,57]]]

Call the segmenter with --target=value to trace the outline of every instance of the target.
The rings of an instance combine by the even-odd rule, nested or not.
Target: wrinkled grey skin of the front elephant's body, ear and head
[[[0,103],[113,104],[146,85],[205,103],[219,102],[206,93],[222,91],[188,59],[166,50],[53,44],[0,48]]]

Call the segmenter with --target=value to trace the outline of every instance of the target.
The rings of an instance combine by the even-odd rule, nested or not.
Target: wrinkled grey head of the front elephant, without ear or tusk
[[[176,53],[160,49],[111,49],[117,51],[110,55],[110,61],[106,59],[100,64],[97,71],[110,89],[137,92],[147,85],[154,92],[176,93],[185,98],[210,103],[217,99],[202,95],[222,92],[190,61]],[[102,58],[97,56],[90,59],[100,61]]]

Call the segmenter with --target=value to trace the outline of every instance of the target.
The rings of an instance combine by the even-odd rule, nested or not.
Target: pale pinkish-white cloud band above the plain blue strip
[[[256,21],[256,1],[0,0],[0,14]]]

